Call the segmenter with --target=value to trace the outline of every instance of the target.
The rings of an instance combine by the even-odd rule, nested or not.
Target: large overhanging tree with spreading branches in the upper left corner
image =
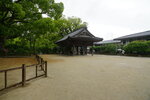
[[[0,1],[0,49],[5,50],[5,41],[24,34],[30,34],[35,21],[46,14],[59,19],[63,3],[54,0],[1,0]]]

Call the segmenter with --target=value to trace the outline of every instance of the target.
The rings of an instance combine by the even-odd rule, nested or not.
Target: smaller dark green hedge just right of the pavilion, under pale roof
[[[102,46],[93,47],[95,53],[98,54],[116,54],[117,45],[116,44],[107,44]]]

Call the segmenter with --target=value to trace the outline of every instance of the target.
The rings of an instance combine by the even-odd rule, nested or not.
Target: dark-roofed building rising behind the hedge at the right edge
[[[115,38],[114,40],[120,40],[122,44],[128,44],[129,42],[136,40],[150,40],[150,31],[139,32],[135,34],[125,35],[119,38]]]

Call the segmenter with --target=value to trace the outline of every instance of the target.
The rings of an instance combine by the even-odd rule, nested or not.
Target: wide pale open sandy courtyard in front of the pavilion
[[[150,58],[42,57],[48,77],[0,93],[0,100],[150,100]]]

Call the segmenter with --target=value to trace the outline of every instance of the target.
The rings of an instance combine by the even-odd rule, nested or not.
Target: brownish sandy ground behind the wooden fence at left
[[[22,58],[0,58],[0,70],[21,67],[22,64],[32,65],[36,63],[37,61],[35,59],[35,56],[22,57]],[[8,78],[7,86],[21,82],[22,81],[21,75],[22,75],[21,69],[8,71],[7,72],[7,78]],[[26,77],[27,79],[34,77],[35,67],[26,68],[26,76],[27,76]],[[4,87],[4,73],[0,73],[0,89],[2,89],[3,87]]]

